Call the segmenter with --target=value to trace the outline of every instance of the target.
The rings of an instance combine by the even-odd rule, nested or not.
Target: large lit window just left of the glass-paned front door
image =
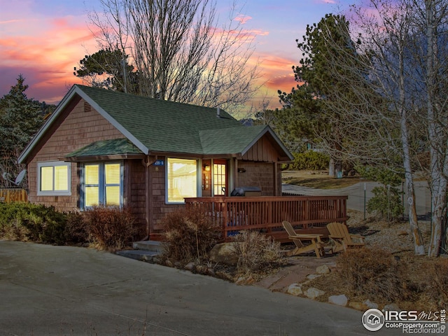
[[[197,162],[167,159],[167,201],[183,203],[186,197],[197,197]]]

